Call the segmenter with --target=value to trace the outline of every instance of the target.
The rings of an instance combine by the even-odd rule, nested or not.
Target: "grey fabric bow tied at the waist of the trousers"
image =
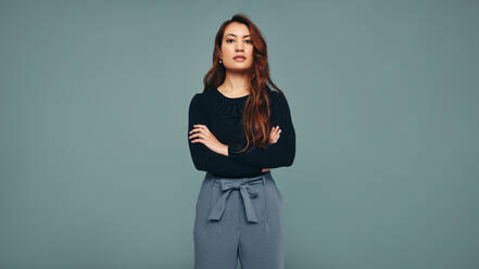
[[[251,181],[239,183],[238,180],[225,180],[222,179],[219,181],[223,194],[216,201],[215,205],[213,206],[209,219],[211,220],[219,220],[222,218],[223,213],[226,208],[226,198],[229,196],[229,193],[232,190],[240,190],[243,204],[244,204],[244,210],[247,213],[247,220],[249,222],[257,222],[256,214],[254,213],[253,204],[250,198],[255,198],[257,196],[257,193],[252,192],[251,187],[257,185],[257,184],[265,184],[265,179],[263,176],[259,179],[254,179]]]

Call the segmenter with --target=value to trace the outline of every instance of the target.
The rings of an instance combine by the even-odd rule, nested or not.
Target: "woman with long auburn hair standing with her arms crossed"
[[[243,269],[283,268],[282,200],[269,169],[292,165],[295,133],[286,97],[269,78],[266,42],[244,15],[219,27],[203,82],[188,120],[191,158],[206,171],[194,268],[232,269],[238,258]]]

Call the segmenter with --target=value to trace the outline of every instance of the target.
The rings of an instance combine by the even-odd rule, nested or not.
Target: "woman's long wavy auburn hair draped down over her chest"
[[[219,64],[219,51],[222,50],[223,36],[228,24],[237,22],[244,24],[251,35],[253,43],[253,64],[250,74],[250,95],[244,104],[243,111],[243,132],[247,138],[247,145],[240,152],[245,151],[250,143],[255,146],[266,148],[269,141],[269,99],[267,91],[270,90],[268,84],[280,94],[282,91],[272,81],[269,77],[268,55],[266,41],[261,35],[260,29],[250,18],[243,14],[235,14],[230,20],[225,21],[219,27],[213,51],[213,66],[203,77],[204,89],[215,89],[219,87],[226,77],[225,66]]]

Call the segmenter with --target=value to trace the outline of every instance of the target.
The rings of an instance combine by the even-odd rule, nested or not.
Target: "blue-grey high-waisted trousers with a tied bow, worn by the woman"
[[[283,269],[281,194],[270,171],[229,179],[206,172],[197,200],[194,269]]]

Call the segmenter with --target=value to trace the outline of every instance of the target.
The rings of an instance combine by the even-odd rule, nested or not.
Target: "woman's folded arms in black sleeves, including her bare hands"
[[[200,98],[200,93],[197,93],[191,100],[188,119],[189,148],[197,169],[226,177],[248,177],[292,164],[295,136],[283,95],[278,101],[279,110],[283,113],[270,132],[267,149],[250,146],[242,153],[237,152],[238,145],[223,144],[211,133]]]

